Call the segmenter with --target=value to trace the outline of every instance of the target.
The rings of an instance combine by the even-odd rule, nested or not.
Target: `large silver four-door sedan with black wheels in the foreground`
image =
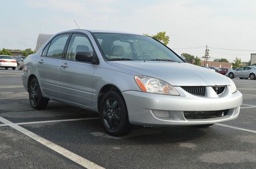
[[[151,37],[128,33],[58,33],[25,60],[22,80],[33,108],[51,99],[99,112],[114,136],[132,125],[230,121],[243,100],[230,78],[185,63]]]

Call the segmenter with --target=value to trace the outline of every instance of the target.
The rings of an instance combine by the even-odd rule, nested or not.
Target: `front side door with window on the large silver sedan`
[[[91,107],[94,65],[76,61],[77,52],[95,54],[87,35],[74,33],[70,39],[66,59],[59,67],[59,98]]]

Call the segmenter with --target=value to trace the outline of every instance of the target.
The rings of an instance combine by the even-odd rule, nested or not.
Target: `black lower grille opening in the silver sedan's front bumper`
[[[183,113],[186,119],[211,119],[226,116],[228,109],[217,111],[183,111]]]

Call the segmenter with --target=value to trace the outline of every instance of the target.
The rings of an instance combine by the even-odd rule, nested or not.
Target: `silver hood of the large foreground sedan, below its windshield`
[[[108,64],[127,69],[138,75],[164,80],[173,86],[230,85],[226,76],[200,66],[164,61],[109,61]]]

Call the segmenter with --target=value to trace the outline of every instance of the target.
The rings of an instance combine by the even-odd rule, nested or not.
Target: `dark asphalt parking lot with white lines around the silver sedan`
[[[256,80],[233,79],[244,98],[236,120],[112,137],[93,112],[31,108],[21,74],[0,68],[0,168],[256,168]]]

